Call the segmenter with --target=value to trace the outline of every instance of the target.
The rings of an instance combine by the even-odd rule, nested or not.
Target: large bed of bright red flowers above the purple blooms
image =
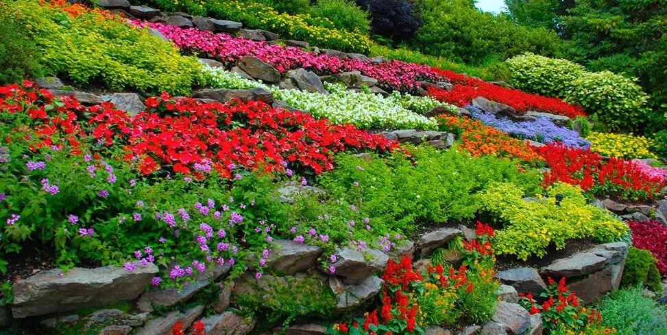
[[[147,110],[132,117],[111,103],[86,108],[73,97],[60,100],[62,104],[30,82],[23,88],[0,88],[0,109],[27,113],[33,124],[26,130],[34,129],[43,139],[38,145],[50,146],[52,138],[64,136],[76,148],[86,135],[84,129],[90,129],[89,134],[107,146],[122,144],[125,159],[136,161],[143,174],[171,165],[184,174],[196,176],[213,168],[229,177],[239,165],[274,171],[288,163],[320,174],[332,169],[335,152],[398,148],[396,142],[352,125],[334,125],[258,101],[201,103],[191,98],[170,100],[162,94],[147,99]],[[88,125],[77,120],[84,116],[89,116]]]

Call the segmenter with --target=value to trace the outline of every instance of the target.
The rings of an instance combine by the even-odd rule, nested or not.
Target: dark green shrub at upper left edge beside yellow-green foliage
[[[6,13],[0,14],[0,36],[0,84],[39,77],[42,68],[35,42]]]

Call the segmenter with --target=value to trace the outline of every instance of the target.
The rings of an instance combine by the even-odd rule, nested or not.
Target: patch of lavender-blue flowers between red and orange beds
[[[551,120],[539,117],[535,121],[512,122],[507,118],[496,118],[493,113],[487,113],[474,106],[465,108],[472,111],[472,117],[480,120],[487,126],[507,133],[519,139],[533,139],[541,143],[561,142],[566,146],[574,148],[588,148],[590,143],[581,138],[579,133],[563,126],[555,125]]]

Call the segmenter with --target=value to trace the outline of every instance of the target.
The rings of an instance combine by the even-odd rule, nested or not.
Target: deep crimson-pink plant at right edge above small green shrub
[[[667,275],[667,227],[657,221],[628,222],[632,230],[632,244],[648,250],[657,259],[657,269]]]

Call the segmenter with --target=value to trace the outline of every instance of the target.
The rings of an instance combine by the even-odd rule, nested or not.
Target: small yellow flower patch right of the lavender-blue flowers
[[[591,150],[600,155],[626,159],[657,158],[649,150],[653,141],[644,136],[593,132],[586,139],[591,142]]]

